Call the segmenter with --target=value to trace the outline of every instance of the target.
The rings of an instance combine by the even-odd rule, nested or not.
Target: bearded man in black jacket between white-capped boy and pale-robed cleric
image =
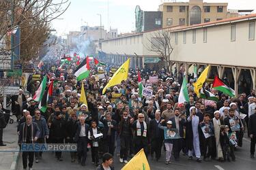
[[[180,110],[174,110],[175,117],[171,118],[171,122],[173,122],[173,128],[177,129],[181,139],[173,140],[173,154],[176,161],[180,160],[180,151],[182,150],[182,146],[184,145],[184,126],[186,126],[185,115],[180,115]]]

